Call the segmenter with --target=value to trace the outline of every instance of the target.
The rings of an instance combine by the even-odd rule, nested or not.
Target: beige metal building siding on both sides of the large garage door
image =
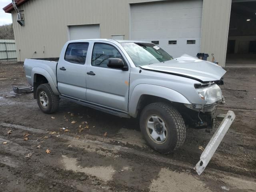
[[[68,40],[68,25],[100,24],[101,38],[129,39],[129,4],[153,1],[161,0],[29,0],[19,7],[25,26],[12,12],[18,61],[58,57]],[[201,51],[214,53],[220,64],[226,57],[230,5],[231,0],[204,0],[203,5]]]

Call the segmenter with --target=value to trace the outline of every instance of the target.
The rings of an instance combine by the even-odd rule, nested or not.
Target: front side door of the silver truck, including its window
[[[128,111],[130,67],[127,71],[108,68],[109,58],[120,58],[121,50],[112,43],[95,42],[86,67],[86,100],[123,112]]]

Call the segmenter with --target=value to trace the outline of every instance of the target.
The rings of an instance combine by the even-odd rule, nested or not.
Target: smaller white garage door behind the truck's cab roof
[[[100,38],[100,25],[69,26],[70,40]]]

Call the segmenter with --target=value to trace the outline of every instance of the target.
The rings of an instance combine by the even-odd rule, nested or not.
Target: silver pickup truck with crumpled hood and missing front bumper
[[[42,112],[55,112],[59,100],[67,99],[116,116],[138,117],[146,142],[165,154],[182,146],[186,125],[212,128],[216,108],[224,103],[218,86],[224,69],[186,54],[173,59],[148,42],[69,41],[58,62],[26,59],[24,69]],[[208,144],[213,153],[234,120],[234,113],[228,113]],[[205,168],[208,162],[199,163]]]

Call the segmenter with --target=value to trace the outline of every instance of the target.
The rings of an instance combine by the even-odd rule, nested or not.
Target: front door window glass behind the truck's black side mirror
[[[126,65],[124,58],[114,46],[95,43],[92,51],[92,66],[108,68],[109,58],[120,58]]]

